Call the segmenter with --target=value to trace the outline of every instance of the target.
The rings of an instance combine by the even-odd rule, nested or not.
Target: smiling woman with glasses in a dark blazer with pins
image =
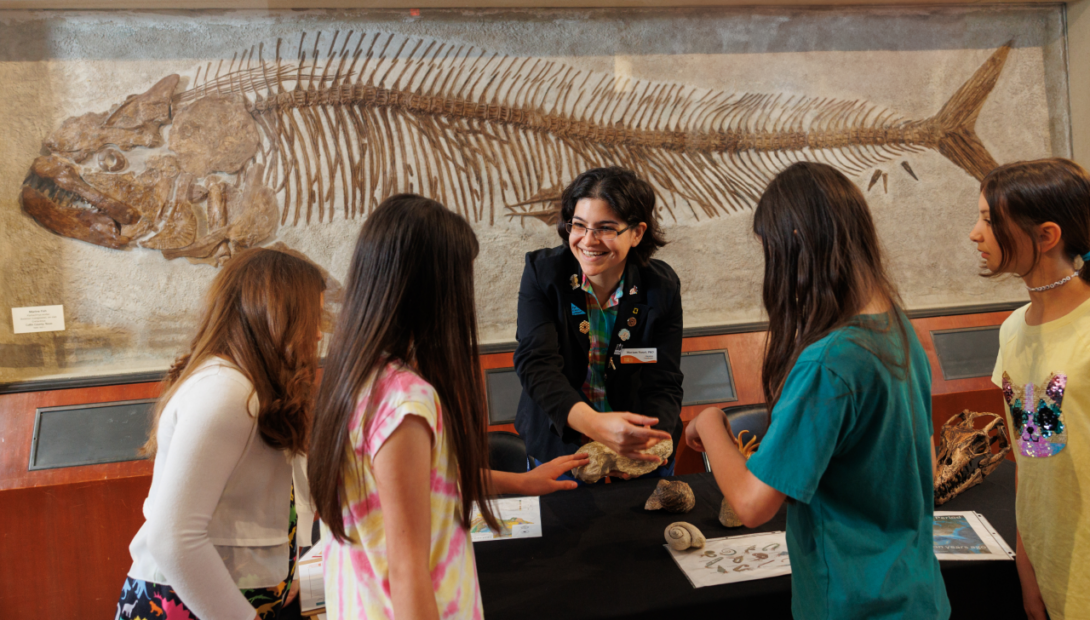
[[[681,284],[651,258],[666,244],[654,190],[598,168],[560,202],[564,244],[526,254],[522,273],[514,427],[538,464],[586,440],[659,461],[641,451],[681,435]],[[671,454],[649,475],[673,470]]]

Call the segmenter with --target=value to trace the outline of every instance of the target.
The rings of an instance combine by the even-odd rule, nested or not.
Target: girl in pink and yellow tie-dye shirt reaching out
[[[367,218],[346,283],[311,434],[323,518],[326,612],[340,618],[481,618],[469,519],[497,528],[491,494],[543,495],[585,464],[487,470],[469,223],[413,195]]]

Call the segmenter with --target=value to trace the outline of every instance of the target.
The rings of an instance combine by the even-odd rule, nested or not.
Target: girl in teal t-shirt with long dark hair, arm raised
[[[795,618],[948,618],[932,544],[931,368],[862,193],[829,166],[796,163],[761,197],[753,231],[772,422],[748,462],[718,409],[686,441],[747,526],[791,498]]]

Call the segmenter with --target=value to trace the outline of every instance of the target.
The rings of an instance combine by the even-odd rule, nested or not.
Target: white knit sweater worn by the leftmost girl
[[[275,586],[288,574],[292,464],[262,439],[256,412],[251,382],[215,357],[159,421],[129,576],[169,584],[203,620],[252,620],[239,588]]]

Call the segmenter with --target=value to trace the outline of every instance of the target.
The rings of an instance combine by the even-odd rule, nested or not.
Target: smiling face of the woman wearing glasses
[[[614,212],[608,203],[602,198],[580,198],[571,217],[573,224],[582,224],[593,229],[613,229],[617,231],[629,228]],[[605,241],[596,234],[580,234],[574,229],[568,235],[568,245],[576,255],[583,273],[589,278],[603,275],[618,278],[625,270],[625,259],[628,252],[640,244],[647,224],[639,223],[617,235],[617,239]]]

